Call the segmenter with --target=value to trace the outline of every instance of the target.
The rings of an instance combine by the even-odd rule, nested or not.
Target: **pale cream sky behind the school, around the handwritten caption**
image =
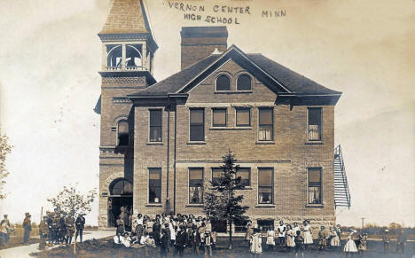
[[[335,107],[352,207],[338,223],[415,226],[415,2],[184,1],[204,5],[201,21],[184,20],[175,2],[152,0],[147,11],[160,49],[154,76],[180,69],[180,29],[210,26],[207,17],[238,19],[228,43],[343,92]],[[180,2],[177,2],[180,3]],[[218,4],[220,3],[220,4]],[[249,6],[250,13],[214,12]],[[0,0],[0,125],[10,137],[11,175],[0,215],[40,219],[64,185],[98,188],[101,43],[111,0]],[[285,11],[262,18],[262,11]],[[35,220],[35,219],[34,219]],[[98,223],[98,202],[87,215]]]

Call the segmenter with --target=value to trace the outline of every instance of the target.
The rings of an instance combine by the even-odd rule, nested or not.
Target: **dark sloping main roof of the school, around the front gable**
[[[330,90],[325,86],[309,80],[308,78],[297,74],[294,71],[279,65],[277,62],[268,59],[262,54],[245,54],[239,50],[238,47],[232,45],[227,51],[221,55],[210,55],[206,59],[202,59],[196,64],[187,67],[186,69],[169,76],[168,78],[157,82],[149,88],[142,90],[136,94],[129,95],[129,97],[145,97],[145,96],[162,96],[167,94],[183,93],[186,85],[189,85],[195,78],[204,73],[209,66],[213,66],[220,59],[224,59],[226,54],[233,51],[239,58],[246,59],[251,66],[257,66],[262,70],[263,74],[270,76],[273,82],[277,82],[283,89],[284,93],[290,94],[341,94],[336,90]],[[228,55],[229,58],[229,55]]]

